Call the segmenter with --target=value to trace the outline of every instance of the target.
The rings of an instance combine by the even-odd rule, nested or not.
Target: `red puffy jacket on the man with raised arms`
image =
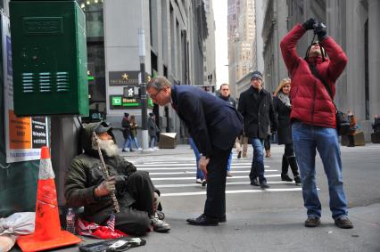
[[[308,125],[335,128],[335,106],[325,85],[312,74],[308,61],[299,57],[295,51],[298,40],[305,32],[305,28],[298,24],[280,44],[286,68],[292,78],[290,117],[292,120],[297,119]],[[325,48],[329,59],[325,58],[325,61],[322,61],[322,58],[318,57],[312,59],[312,62],[335,95],[335,81],[342,74],[348,59],[332,37],[326,37],[319,43]]]

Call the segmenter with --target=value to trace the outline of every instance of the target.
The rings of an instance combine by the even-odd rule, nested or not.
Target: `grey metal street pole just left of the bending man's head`
[[[141,3],[143,4],[143,3]],[[144,16],[141,18],[143,19]],[[145,90],[145,31],[144,28],[138,29],[138,54],[140,58],[140,89],[141,89],[141,126],[142,126],[142,148],[148,150],[148,126],[147,114],[148,104]]]

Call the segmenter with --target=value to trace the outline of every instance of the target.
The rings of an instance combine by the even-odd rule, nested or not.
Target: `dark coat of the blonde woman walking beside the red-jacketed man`
[[[292,143],[292,125],[290,123],[290,107],[285,106],[277,96],[273,97],[273,108],[277,113],[278,121],[278,144]]]

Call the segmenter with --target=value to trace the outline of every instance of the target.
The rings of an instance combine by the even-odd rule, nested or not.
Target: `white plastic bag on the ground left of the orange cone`
[[[15,213],[6,218],[0,218],[0,235],[2,234],[30,234],[34,232],[35,212]]]

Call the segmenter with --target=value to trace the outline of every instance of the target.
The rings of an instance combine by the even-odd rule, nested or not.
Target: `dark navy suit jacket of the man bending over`
[[[232,148],[243,118],[231,104],[191,85],[173,85],[171,100],[202,155],[211,157],[213,146]]]

